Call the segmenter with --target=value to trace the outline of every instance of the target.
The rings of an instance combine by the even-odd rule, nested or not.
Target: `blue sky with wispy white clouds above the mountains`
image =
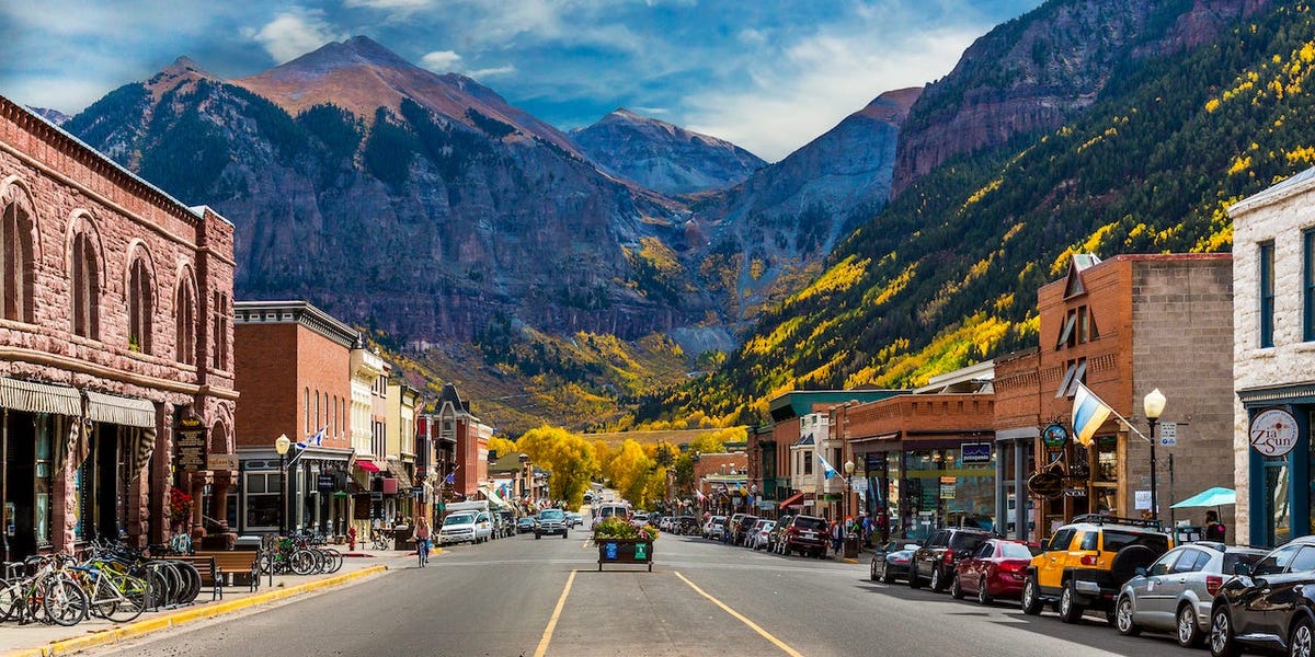
[[[255,75],[364,34],[567,130],[618,106],[778,160],[1041,0],[4,0],[0,95],[76,113],[188,55]]]

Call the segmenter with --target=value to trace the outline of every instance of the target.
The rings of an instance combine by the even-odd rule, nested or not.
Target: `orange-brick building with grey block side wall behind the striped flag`
[[[1169,506],[1173,498],[1232,482],[1232,360],[1226,356],[1232,350],[1232,258],[1120,255],[1101,261],[1080,254],[1064,279],[1038,292],[1038,313],[1035,360],[1001,359],[995,385],[997,443],[1031,440],[1036,470],[1053,472],[1061,482],[1048,497],[1034,495],[1036,530],[1048,535],[1085,512],[1151,511],[1151,445],[1141,436],[1149,434],[1143,399],[1152,389],[1168,398],[1160,420],[1177,428],[1177,445],[1157,448],[1159,518],[1201,524],[1203,511]],[[1111,415],[1091,445],[1077,444],[1070,415],[1078,384],[1134,423],[1132,430]],[[1002,490],[1006,480],[1018,485],[1020,473],[1013,474],[1003,473]]]

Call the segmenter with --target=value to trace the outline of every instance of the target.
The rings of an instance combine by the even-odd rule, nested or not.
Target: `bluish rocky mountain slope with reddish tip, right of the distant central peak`
[[[784,160],[693,206],[709,243],[700,275],[722,293],[730,322],[806,284],[798,275],[815,273],[840,239],[881,210],[901,124],[920,92],[882,93]]]

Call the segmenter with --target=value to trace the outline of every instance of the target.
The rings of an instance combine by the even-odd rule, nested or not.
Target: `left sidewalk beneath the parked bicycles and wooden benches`
[[[433,558],[441,553],[442,549],[435,548],[430,555]],[[95,616],[74,627],[0,623],[0,657],[72,654],[416,565],[414,551],[358,549],[343,552],[343,557],[347,558],[343,558],[342,569],[334,574],[275,576],[272,586],[270,577],[264,576],[258,593],[250,593],[245,586],[227,586],[224,589],[224,599],[213,602],[209,589],[203,587],[195,603],[174,610],[147,611],[132,623],[113,623]]]

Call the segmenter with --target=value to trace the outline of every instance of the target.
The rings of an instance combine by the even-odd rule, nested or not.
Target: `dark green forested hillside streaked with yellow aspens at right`
[[[1231,202],[1315,163],[1315,17],[1122,64],[1084,116],[948,162],[853,233],[725,367],[640,417],[752,423],[792,388],[906,386],[1038,342],[1036,289],[1073,252],[1227,251]]]

